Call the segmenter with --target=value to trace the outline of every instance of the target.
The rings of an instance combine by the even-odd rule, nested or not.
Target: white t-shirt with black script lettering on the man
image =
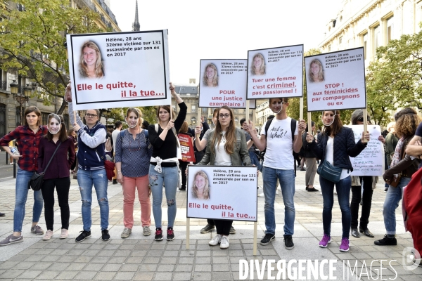
[[[295,169],[291,120],[290,117],[283,120],[274,117],[269,125],[264,166],[280,170]],[[262,126],[261,135],[265,135],[265,126]],[[298,135],[298,122],[294,135]]]

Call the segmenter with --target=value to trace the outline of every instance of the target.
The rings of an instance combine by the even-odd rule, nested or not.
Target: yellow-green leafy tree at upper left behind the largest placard
[[[63,98],[68,84],[68,60],[64,43],[67,33],[102,32],[98,13],[74,9],[68,0],[20,0],[22,9],[7,10],[2,22],[0,47],[3,70],[16,70],[39,86],[38,98],[49,105]],[[19,11],[22,10],[22,11]],[[67,103],[63,101],[58,114]]]

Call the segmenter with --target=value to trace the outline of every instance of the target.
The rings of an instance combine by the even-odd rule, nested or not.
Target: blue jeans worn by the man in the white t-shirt
[[[279,170],[262,167],[264,183],[264,216],[265,233],[276,234],[276,217],[274,200],[276,199],[277,179],[280,181],[281,194],[284,202],[284,236],[293,235],[295,231],[295,170]]]

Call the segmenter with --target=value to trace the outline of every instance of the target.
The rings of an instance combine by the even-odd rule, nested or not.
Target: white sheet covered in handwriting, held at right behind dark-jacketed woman
[[[362,137],[364,125],[349,126],[353,129],[354,141],[357,143]],[[368,124],[367,130],[371,134],[371,139],[366,148],[357,157],[350,157],[353,171],[352,176],[383,176],[384,173],[384,145],[378,141],[381,136],[379,125]]]

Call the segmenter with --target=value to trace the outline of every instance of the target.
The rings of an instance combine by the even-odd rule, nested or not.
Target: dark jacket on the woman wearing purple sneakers
[[[315,141],[309,143],[309,146],[311,150],[315,152],[316,157],[321,159],[321,163],[324,162],[326,157],[327,141],[328,136],[326,136],[325,133],[320,133],[318,135],[318,143]],[[362,143],[361,140],[354,143],[353,130],[343,127],[334,137],[334,163],[332,164],[334,166],[353,171],[353,166],[349,157],[357,157],[357,155],[366,148],[366,145],[367,143]]]

